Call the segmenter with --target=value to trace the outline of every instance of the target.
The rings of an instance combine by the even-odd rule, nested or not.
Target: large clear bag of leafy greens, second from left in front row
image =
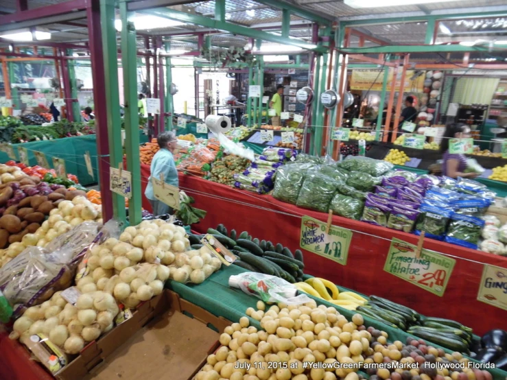
[[[324,174],[318,173],[307,176],[299,191],[296,205],[305,209],[327,213],[339,184],[340,182]]]

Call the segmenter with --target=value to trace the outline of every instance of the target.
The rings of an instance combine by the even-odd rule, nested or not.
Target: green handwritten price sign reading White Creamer
[[[300,247],[339,264],[346,265],[351,245],[352,231],[327,225],[313,217],[303,216],[301,220]]]

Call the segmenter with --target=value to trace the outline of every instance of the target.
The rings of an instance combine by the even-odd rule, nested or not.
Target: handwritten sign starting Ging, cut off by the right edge
[[[477,300],[507,310],[507,269],[484,265]]]

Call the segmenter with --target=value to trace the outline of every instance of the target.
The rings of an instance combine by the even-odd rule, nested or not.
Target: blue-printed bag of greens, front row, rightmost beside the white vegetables
[[[445,241],[458,246],[477,249],[484,220],[478,217],[453,213]]]

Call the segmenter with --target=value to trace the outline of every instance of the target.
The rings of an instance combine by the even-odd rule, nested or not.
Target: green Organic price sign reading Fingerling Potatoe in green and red
[[[392,239],[384,270],[413,285],[442,297],[456,260],[430,250],[421,250],[399,239]]]

